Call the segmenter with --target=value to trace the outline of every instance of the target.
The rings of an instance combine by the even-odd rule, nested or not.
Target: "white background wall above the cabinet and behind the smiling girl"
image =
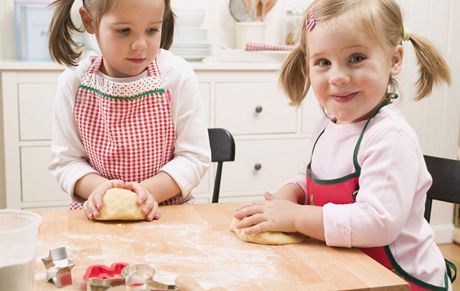
[[[228,10],[228,0],[172,0],[173,7],[207,11],[203,28],[209,32],[214,49],[234,47],[234,23]],[[436,88],[432,96],[415,103],[413,83],[416,61],[410,44],[405,44],[406,58],[399,78],[402,106],[417,131],[424,153],[456,158],[460,141],[460,38],[458,31],[460,1],[456,0],[398,0],[405,15],[405,25],[414,33],[431,39],[444,53],[452,70],[450,87]],[[0,58],[14,58],[13,0],[0,2]],[[306,7],[311,1],[280,0],[266,18],[268,43],[280,43],[286,10],[294,5]],[[452,220],[450,205],[435,204],[432,223],[440,227]]]

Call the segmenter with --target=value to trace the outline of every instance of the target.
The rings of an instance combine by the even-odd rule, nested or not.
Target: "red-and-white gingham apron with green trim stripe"
[[[101,63],[102,57],[95,59],[83,76],[74,107],[88,163],[109,180],[142,182],[174,155],[176,133],[169,92],[156,61],[147,68],[147,77],[126,83],[102,76]],[[191,199],[190,194],[178,194],[161,205]]]

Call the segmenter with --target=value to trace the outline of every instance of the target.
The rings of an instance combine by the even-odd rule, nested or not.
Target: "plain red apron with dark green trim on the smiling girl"
[[[383,103],[381,106],[386,105],[387,103]],[[378,109],[381,108],[378,107]],[[372,117],[375,116],[374,113]],[[356,201],[356,196],[358,195],[359,191],[359,174],[361,172],[361,167],[358,164],[358,150],[361,144],[362,137],[364,135],[364,131],[366,130],[369,121],[372,117],[367,121],[366,125],[364,126],[361,135],[356,143],[354,154],[353,154],[353,163],[355,166],[355,172],[344,176],[342,178],[337,178],[333,180],[320,180],[314,178],[313,171],[311,169],[311,160],[307,166],[307,175],[306,175],[306,183],[307,183],[307,199],[306,203],[311,205],[318,205],[324,206],[326,203],[334,203],[334,204],[350,204]],[[313,152],[321,135],[318,136],[312,150]],[[438,287],[433,286],[423,281],[414,278],[413,276],[409,275],[405,272],[396,262],[395,258],[391,254],[391,250],[389,246],[382,246],[382,247],[373,247],[373,248],[361,248],[361,251],[366,253],[368,256],[385,266],[387,269],[392,270],[403,279],[405,279],[409,285],[411,291],[427,291],[427,290],[447,290],[447,280],[448,276],[446,273],[445,276],[445,286],[446,287]],[[446,265],[446,267],[448,267]]]

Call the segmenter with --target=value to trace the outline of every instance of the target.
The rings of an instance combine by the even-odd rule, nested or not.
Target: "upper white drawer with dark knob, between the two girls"
[[[276,82],[216,83],[216,127],[232,134],[296,132],[297,110]]]

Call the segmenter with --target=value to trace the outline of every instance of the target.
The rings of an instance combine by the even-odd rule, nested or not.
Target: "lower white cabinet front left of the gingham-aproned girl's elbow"
[[[22,202],[70,201],[48,172],[50,153],[48,146],[21,148]]]

